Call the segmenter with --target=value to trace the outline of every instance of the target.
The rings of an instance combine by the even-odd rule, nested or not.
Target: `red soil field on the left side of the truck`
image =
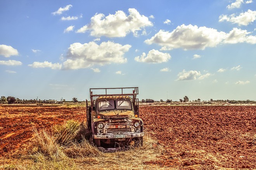
[[[32,127],[50,129],[69,119],[83,120],[85,107],[0,106],[0,157],[33,138]]]

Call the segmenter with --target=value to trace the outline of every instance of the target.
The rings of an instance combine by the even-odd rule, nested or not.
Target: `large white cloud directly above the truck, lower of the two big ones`
[[[71,44],[67,52],[67,60],[63,63],[64,69],[88,68],[93,65],[106,65],[111,63],[126,63],[124,58],[131,46],[114,43],[111,41],[102,42],[100,45],[94,41],[81,44]]]

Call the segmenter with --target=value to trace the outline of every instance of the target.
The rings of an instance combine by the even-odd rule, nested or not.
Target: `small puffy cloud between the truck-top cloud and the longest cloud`
[[[137,56],[134,58],[135,61],[144,63],[163,63],[167,62],[169,59],[171,59],[170,54],[162,53],[155,49],[150,50],[147,56],[145,53],[142,53],[141,56]]]

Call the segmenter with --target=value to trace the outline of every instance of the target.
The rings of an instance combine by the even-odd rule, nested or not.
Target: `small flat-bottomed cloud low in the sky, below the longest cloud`
[[[178,79],[177,80],[202,80],[204,78],[207,78],[211,75],[211,73],[206,73],[202,75],[200,71],[186,71],[183,70],[182,72],[178,73]]]

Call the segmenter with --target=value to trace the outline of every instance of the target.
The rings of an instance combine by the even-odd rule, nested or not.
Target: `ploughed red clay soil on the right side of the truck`
[[[140,113],[146,131],[167,150],[155,163],[256,168],[256,106],[145,106]]]

